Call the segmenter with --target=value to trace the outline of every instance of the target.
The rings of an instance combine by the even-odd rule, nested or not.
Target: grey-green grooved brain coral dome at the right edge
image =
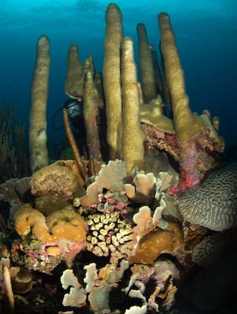
[[[179,209],[190,223],[222,231],[237,226],[237,163],[213,172],[197,189],[179,196]]]

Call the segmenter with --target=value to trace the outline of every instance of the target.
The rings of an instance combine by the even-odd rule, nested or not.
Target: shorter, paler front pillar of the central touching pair
[[[144,168],[145,133],[140,123],[140,101],[137,67],[131,38],[122,42],[122,157],[127,171]]]

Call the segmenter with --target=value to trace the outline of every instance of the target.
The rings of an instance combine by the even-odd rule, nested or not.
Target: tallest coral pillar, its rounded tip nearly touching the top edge
[[[122,13],[116,4],[109,4],[106,11],[105,57],[103,84],[107,115],[107,141],[110,159],[120,158],[122,134],[122,91],[121,91],[121,43],[123,38]]]

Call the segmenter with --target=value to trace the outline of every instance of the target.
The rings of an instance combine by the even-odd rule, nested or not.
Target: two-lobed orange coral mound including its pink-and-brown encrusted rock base
[[[25,204],[13,215],[13,223],[21,238],[13,242],[11,257],[28,269],[51,274],[62,260],[71,267],[76,254],[86,246],[86,222],[71,206],[45,218]]]

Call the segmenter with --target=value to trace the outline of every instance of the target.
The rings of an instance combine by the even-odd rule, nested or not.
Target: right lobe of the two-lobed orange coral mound
[[[54,211],[47,216],[46,224],[54,240],[58,238],[75,241],[86,240],[86,221],[71,206],[67,206],[61,211]]]

